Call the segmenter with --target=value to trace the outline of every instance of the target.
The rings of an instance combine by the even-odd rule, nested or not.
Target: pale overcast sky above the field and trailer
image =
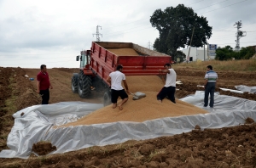
[[[255,0],[0,0],[0,66],[78,68],[76,55],[96,41],[153,45],[159,32],[149,18],[154,10],[183,3],[212,26],[210,44],[236,46],[234,24],[247,36],[240,46],[256,45]]]

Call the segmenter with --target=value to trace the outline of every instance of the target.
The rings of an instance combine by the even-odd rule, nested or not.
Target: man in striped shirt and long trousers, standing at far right
[[[205,76],[205,99],[204,99],[204,107],[208,106],[208,98],[210,93],[210,107],[213,108],[214,104],[214,91],[216,82],[218,79],[218,75],[215,71],[212,70],[212,65],[207,66],[207,73]]]

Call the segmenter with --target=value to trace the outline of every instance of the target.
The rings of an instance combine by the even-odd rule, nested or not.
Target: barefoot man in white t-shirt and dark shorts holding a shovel
[[[128,85],[125,81],[125,74],[122,73],[123,71],[123,66],[118,65],[116,67],[116,71],[111,72],[107,78],[108,83],[110,83],[111,86],[111,102],[113,104],[113,109],[117,107],[117,100],[119,97],[122,98],[122,102],[119,104],[119,109],[122,110],[123,107],[122,105],[125,104],[128,100]],[[124,86],[126,89],[122,87],[122,81],[124,82]]]

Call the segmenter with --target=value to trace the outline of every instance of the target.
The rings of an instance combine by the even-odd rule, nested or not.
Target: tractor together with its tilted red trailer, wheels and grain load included
[[[124,67],[125,76],[154,76],[172,57],[132,42],[92,42],[90,50],[81,51],[80,72],[74,73],[72,90],[80,98],[90,98],[94,92],[104,92],[104,105],[111,104],[108,75],[118,64]]]

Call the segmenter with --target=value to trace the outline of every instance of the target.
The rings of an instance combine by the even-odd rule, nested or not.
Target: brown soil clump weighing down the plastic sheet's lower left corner
[[[38,142],[34,143],[32,146],[32,151],[38,155],[45,155],[49,154],[52,151],[55,151],[57,148],[55,146],[52,146],[49,142]]]

